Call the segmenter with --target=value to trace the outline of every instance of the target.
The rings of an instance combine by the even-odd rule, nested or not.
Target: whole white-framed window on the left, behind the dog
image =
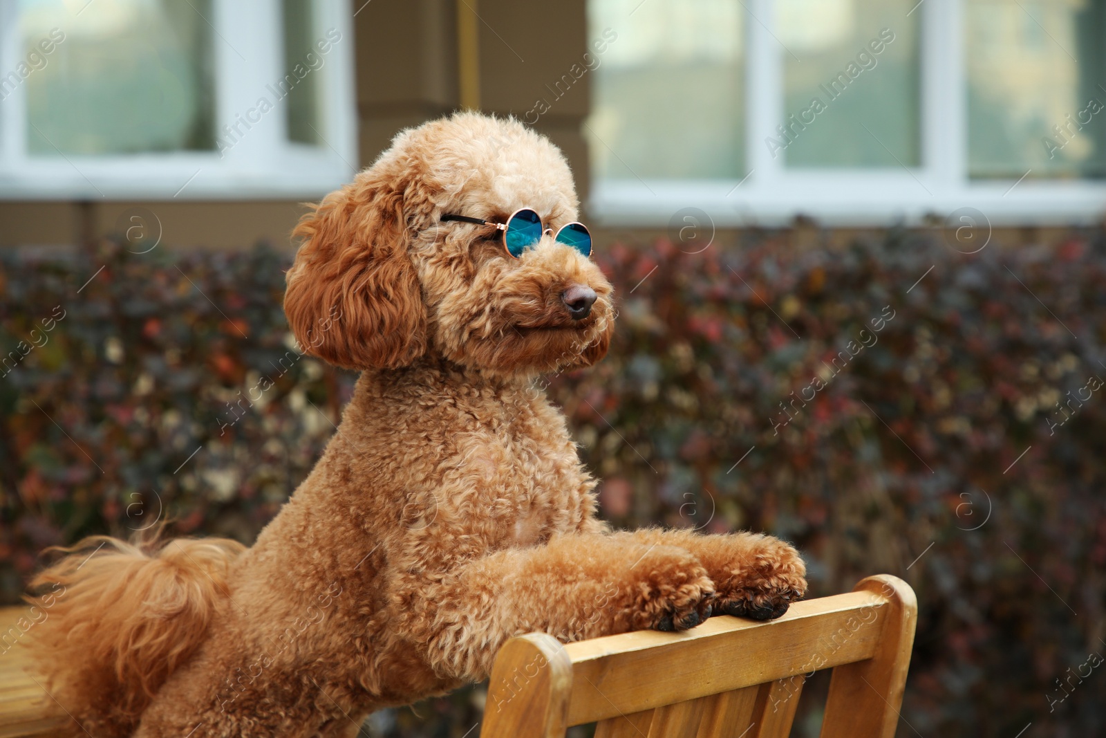
[[[322,0],[0,4],[0,197],[333,189],[356,160],[347,11]]]

